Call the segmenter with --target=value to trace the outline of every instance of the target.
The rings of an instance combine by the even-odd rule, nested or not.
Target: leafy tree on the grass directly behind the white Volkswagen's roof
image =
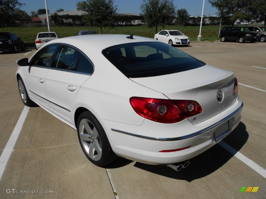
[[[113,27],[113,16],[117,13],[118,6],[113,0],[86,0],[77,2],[77,7],[82,5],[82,10],[86,11],[86,21],[93,26],[98,26],[103,34],[103,27]],[[81,7],[79,7],[81,8]]]

